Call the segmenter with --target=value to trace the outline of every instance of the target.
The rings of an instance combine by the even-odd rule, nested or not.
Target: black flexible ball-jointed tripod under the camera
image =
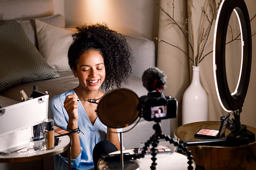
[[[144,147],[143,147],[143,151],[142,153],[139,153],[136,155],[136,157],[134,157],[134,159],[140,159],[140,158],[144,158],[146,151],[148,150],[148,148],[150,147],[150,144],[152,144],[152,149],[151,149],[151,155],[153,156],[151,158],[151,160],[153,161],[150,168],[152,170],[156,169],[156,151],[157,151],[157,145],[159,143],[159,139],[165,139],[166,141],[169,141],[170,143],[174,143],[175,147],[178,147],[178,151],[180,151],[181,153],[185,154],[187,156],[188,159],[188,170],[193,169],[194,167],[192,166],[192,159],[193,156],[191,155],[191,151],[187,150],[187,147],[182,143],[182,142],[177,142],[174,139],[171,139],[169,136],[166,136],[165,134],[163,134],[162,130],[161,130],[161,125],[159,124],[159,122],[161,122],[161,120],[156,120],[155,121],[156,124],[153,126],[153,129],[155,130],[155,134],[152,135],[152,137],[150,137],[149,140],[147,140],[144,143]]]

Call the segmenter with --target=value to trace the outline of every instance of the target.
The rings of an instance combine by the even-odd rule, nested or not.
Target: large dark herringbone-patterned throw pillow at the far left
[[[0,26],[0,92],[19,83],[57,77],[18,21]]]

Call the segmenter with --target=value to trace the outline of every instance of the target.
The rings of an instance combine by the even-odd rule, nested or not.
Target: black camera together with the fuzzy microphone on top
[[[155,122],[177,117],[178,101],[162,93],[167,83],[163,71],[157,67],[146,69],[142,75],[142,82],[148,93],[140,97],[138,106],[140,117]]]

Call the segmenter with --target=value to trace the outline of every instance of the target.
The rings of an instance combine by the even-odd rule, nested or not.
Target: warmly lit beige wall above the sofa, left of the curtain
[[[54,7],[69,27],[106,22],[121,34],[151,40],[158,34],[159,9],[150,0],[54,0]]]

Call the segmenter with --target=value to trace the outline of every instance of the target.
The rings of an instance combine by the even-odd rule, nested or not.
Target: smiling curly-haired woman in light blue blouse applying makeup
[[[72,169],[93,169],[96,143],[103,140],[108,145],[105,152],[119,150],[120,144],[117,133],[112,133],[117,130],[108,128],[109,132],[100,122],[95,112],[97,104],[78,99],[98,102],[104,94],[100,88],[107,91],[126,83],[131,73],[131,52],[125,38],[105,25],[77,29],[68,58],[79,85],[54,96],[49,102],[49,115],[57,126],[72,132]],[[55,157],[55,169],[65,169],[67,163],[66,154]]]

